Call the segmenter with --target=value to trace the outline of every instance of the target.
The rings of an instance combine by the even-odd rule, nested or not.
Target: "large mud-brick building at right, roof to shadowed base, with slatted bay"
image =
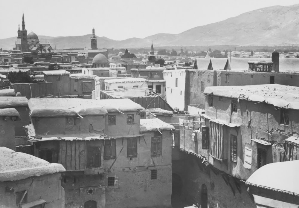
[[[199,129],[181,135],[181,150],[188,155],[179,162],[193,158],[184,163],[190,173],[178,170],[188,178],[184,185],[193,187],[188,200],[202,207],[255,206],[244,182],[268,163],[299,159],[298,89],[278,84],[205,88]]]

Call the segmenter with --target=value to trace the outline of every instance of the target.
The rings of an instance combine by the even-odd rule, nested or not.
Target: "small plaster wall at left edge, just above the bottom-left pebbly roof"
[[[4,119],[0,116],[0,146],[7,147],[16,151],[15,129],[14,124],[19,121],[13,121],[10,117]]]

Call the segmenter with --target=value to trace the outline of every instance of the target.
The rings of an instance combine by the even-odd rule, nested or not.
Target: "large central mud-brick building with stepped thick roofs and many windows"
[[[65,207],[171,206],[171,125],[142,123],[143,108],[129,99],[30,99],[29,107],[35,155],[66,169]]]

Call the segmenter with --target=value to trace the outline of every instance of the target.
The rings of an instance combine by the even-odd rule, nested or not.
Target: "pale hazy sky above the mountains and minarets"
[[[28,33],[123,40],[156,33],[181,33],[193,27],[298,0],[14,0],[1,1],[0,39],[17,36],[22,11]]]

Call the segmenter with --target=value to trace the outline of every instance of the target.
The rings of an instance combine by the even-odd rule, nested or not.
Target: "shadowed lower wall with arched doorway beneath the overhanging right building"
[[[180,197],[187,203],[201,205],[202,187],[205,184],[209,207],[256,207],[244,182],[229,177],[226,184],[221,173],[216,175],[209,167],[205,167],[199,158],[183,152],[180,152],[180,155],[181,160],[173,161],[173,174],[179,175],[182,180]]]

